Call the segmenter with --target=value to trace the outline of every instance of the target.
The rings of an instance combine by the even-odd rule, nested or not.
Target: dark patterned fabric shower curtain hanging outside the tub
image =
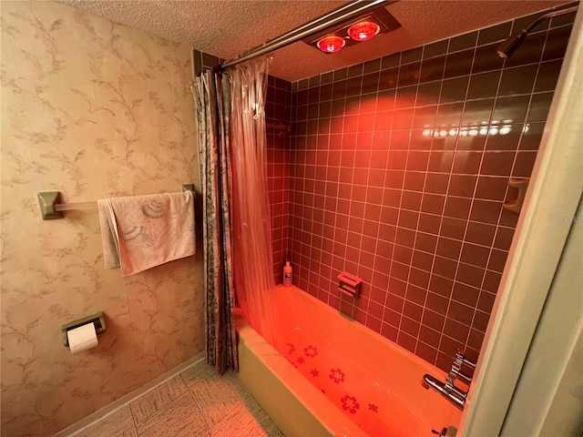
[[[210,70],[194,80],[202,191],[207,362],[239,370],[230,236],[229,84]]]

